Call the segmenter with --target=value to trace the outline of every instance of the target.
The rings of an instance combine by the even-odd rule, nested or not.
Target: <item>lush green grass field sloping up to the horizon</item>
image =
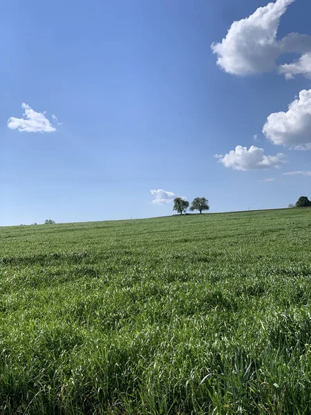
[[[311,209],[0,228],[0,414],[310,414]]]

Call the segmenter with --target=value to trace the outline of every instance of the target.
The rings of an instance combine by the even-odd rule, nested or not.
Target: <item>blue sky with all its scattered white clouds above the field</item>
[[[0,9],[0,225],[311,198],[309,0]]]

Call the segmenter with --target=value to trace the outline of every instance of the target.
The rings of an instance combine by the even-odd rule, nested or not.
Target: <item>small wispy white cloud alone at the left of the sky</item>
[[[10,129],[19,129],[27,133],[50,133],[56,131],[56,128],[50,123],[45,113],[34,111],[29,105],[21,104],[21,108],[25,109],[23,118],[10,117],[8,119],[8,127]]]

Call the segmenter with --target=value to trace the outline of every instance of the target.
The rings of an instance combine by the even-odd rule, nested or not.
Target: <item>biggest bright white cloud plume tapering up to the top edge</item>
[[[281,44],[276,41],[280,19],[292,1],[276,0],[234,21],[222,42],[211,44],[217,64],[233,75],[271,71],[281,54]]]

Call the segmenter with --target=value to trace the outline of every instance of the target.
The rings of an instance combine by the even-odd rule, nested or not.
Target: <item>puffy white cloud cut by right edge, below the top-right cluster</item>
[[[287,112],[270,114],[263,133],[273,144],[311,149],[311,89],[300,91]]]

